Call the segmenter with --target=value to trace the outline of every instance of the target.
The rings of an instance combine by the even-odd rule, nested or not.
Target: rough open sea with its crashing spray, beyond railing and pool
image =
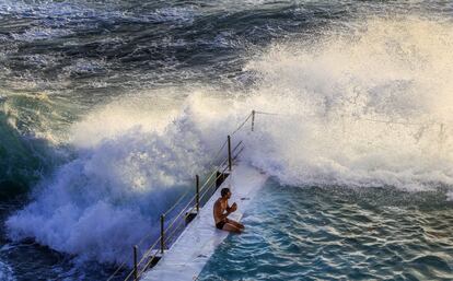
[[[30,190],[4,236],[119,264],[252,109],[233,141],[281,185],[449,200],[451,10],[0,2],[1,183]]]

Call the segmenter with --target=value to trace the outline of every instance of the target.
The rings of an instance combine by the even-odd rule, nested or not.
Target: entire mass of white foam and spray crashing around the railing
[[[73,126],[77,159],[8,220],[9,235],[102,261],[130,256],[252,109],[281,115],[257,115],[255,132],[247,124],[233,141],[282,184],[450,188],[451,46],[450,25],[370,20],[352,35],[274,45],[245,68],[256,82],[244,93],[165,90],[96,108]]]

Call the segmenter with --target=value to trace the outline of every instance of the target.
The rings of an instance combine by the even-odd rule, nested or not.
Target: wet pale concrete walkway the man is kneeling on
[[[237,211],[231,214],[232,219],[240,220],[243,216],[249,202],[267,178],[267,175],[247,165],[240,164],[235,167],[221,186],[221,188],[230,186],[233,194],[230,201],[239,204]],[[217,230],[212,219],[212,207],[220,197],[221,188],[200,209],[199,214],[184,230],[158,265],[144,273],[142,281],[193,281],[198,278],[216,248],[229,235],[228,232]]]

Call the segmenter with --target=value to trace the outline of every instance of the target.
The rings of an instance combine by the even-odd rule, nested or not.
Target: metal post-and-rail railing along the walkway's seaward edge
[[[232,136],[241,130],[251,118],[252,131],[254,130],[255,110],[252,110],[245,120],[231,134],[226,137],[226,140],[223,142],[220,150],[216,153],[216,156],[211,162],[211,166],[213,163],[219,162],[219,159],[226,147],[228,155],[223,159],[220,159],[220,164],[213,165],[212,172],[206,176],[202,185],[200,185],[199,175],[196,175],[195,192],[193,196],[187,199],[187,196],[190,194],[190,189],[188,189],[176,200],[176,202],[171,208],[161,214],[160,235],[147,248],[140,260],[138,260],[139,245],[149,238],[150,235],[143,237],[137,245],[132,247],[133,268],[124,279],[125,281],[138,280],[144,271],[147,271],[159,261],[159,259],[164,255],[165,249],[169,248],[167,246],[170,246],[172,242],[177,238],[178,234],[183,232],[184,226],[187,225],[190,220],[199,213],[200,208],[202,208],[202,206],[216,192],[217,188],[220,185],[220,182],[223,182],[223,179],[232,172],[235,161],[245,148],[243,141],[239,141],[234,147],[232,147]],[[183,202],[185,202],[185,204],[181,207]],[[169,216],[169,214],[174,210],[179,210],[179,212],[176,215],[173,215],[170,221],[166,221],[166,216]],[[125,267],[126,261],[115,270],[115,272],[107,279],[107,281],[113,280],[115,277],[117,277],[120,270]]]

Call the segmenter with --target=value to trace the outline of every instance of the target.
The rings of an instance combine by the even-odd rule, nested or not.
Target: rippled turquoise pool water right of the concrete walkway
[[[199,280],[452,280],[444,192],[279,186],[269,180]]]

